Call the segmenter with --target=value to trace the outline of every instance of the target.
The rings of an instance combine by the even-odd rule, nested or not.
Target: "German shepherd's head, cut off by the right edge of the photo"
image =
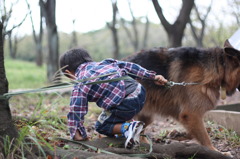
[[[231,95],[236,88],[240,91],[240,51],[225,47],[225,81],[227,94]]]

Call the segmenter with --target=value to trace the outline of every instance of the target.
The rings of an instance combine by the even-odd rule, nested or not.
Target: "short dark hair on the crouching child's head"
[[[87,50],[83,48],[71,49],[60,57],[60,68],[62,68],[62,72],[66,70],[75,72],[79,65],[92,61]]]

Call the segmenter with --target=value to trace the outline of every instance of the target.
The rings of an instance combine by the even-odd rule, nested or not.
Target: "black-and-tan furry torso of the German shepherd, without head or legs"
[[[198,112],[213,109],[219,97],[218,89],[222,78],[219,74],[223,71],[222,65],[217,64],[217,61],[221,61],[221,51],[217,48],[214,51],[187,47],[155,48],[142,51],[128,60],[153,70],[170,81],[199,83],[168,88],[157,86],[152,81],[141,81],[148,92],[147,108],[151,107],[153,113],[171,115],[178,119],[183,107]],[[205,94],[202,89],[206,84],[216,88],[211,88],[212,92]]]

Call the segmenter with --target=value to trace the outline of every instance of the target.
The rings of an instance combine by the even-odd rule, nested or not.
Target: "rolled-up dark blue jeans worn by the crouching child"
[[[96,131],[110,137],[114,136],[115,134],[112,133],[114,125],[125,123],[139,113],[143,108],[145,97],[145,89],[139,84],[120,105],[103,110],[96,122]]]

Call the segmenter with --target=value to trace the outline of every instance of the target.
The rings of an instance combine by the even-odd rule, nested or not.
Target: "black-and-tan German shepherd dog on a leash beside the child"
[[[125,59],[154,70],[169,81],[195,82],[196,85],[158,86],[140,80],[147,97],[137,119],[149,125],[155,115],[179,121],[201,145],[216,150],[204,127],[204,114],[215,108],[220,88],[231,96],[240,85],[240,52],[230,48],[198,49],[179,47],[142,50]]]

